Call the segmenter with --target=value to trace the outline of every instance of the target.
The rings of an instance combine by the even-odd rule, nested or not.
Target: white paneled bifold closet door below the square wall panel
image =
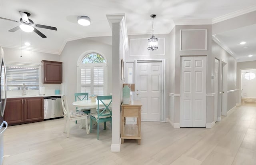
[[[206,57],[182,57],[180,127],[206,127]]]

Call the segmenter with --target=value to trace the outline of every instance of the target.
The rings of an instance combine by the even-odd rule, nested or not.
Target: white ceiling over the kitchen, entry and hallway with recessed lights
[[[111,36],[112,32],[106,14],[124,13],[126,15],[128,35],[151,34],[152,18],[154,33],[168,34],[174,22],[182,20],[208,20],[238,12],[256,10],[255,0],[1,0],[0,17],[20,20],[18,11],[29,12],[35,24],[54,26],[58,31],[37,28],[47,38],[36,33],[21,30],[8,32],[20,23],[0,19],[0,45],[61,54],[66,42],[86,37]],[[81,26],[77,17],[85,15],[91,19],[90,26]],[[230,30],[218,34],[218,37],[232,50],[236,58],[248,54],[256,56],[256,25]],[[234,37],[236,36],[236,37]],[[239,48],[237,42],[248,41],[248,45]],[[31,46],[24,46],[24,42]],[[244,48],[247,47],[247,48]],[[254,50],[255,49],[255,50]],[[248,60],[250,60],[248,58]]]

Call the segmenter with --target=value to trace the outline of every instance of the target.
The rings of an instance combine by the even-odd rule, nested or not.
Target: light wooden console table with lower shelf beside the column
[[[121,105],[121,143],[124,144],[124,139],[138,139],[140,145],[140,111],[141,102],[137,100],[130,101],[130,104]],[[136,124],[126,124],[126,117],[136,117]]]

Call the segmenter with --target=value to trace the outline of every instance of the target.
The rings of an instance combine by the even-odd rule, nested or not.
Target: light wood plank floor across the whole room
[[[63,119],[8,127],[3,165],[256,165],[256,106],[243,105],[212,129],[174,129],[170,123],[142,122],[141,145],[126,140],[110,151],[111,130],[89,135]],[[101,128],[102,129],[102,128]]]

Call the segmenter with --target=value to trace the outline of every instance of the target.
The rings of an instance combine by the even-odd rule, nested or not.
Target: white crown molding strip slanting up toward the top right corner
[[[212,24],[216,24],[216,23],[222,22],[224,20],[228,20],[228,19],[231,19],[231,18],[234,18],[234,17],[237,17],[237,16],[241,16],[243,14],[254,12],[255,10],[256,10],[256,5],[250,6],[248,8],[244,8],[242,10],[238,10],[236,12],[232,12],[232,13],[229,13],[229,14],[217,17],[217,18],[213,18],[212,19]]]

